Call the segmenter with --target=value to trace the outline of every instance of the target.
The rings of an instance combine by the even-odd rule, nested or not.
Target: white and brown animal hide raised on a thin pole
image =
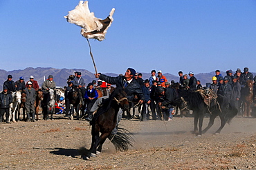
[[[115,12],[115,8],[111,10],[106,19],[98,19],[94,16],[93,12],[90,12],[88,1],[80,1],[75,9],[69,11],[68,15],[64,16],[64,18],[66,18],[66,21],[69,23],[75,23],[75,25],[80,26],[82,28],[82,36],[84,36],[89,43],[89,39],[97,39],[98,41],[103,41],[105,39],[107,29],[113,22],[113,12]],[[91,59],[93,60],[93,65],[97,74],[90,43],[89,47]]]

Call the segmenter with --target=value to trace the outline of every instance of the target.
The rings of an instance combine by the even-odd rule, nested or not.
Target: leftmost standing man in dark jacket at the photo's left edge
[[[12,95],[8,94],[8,88],[3,86],[3,92],[0,94],[0,124],[3,122],[4,114],[6,114],[6,123],[10,123],[10,103],[12,103]]]

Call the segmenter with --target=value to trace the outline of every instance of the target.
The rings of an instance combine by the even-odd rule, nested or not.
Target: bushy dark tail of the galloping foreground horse
[[[110,134],[108,138],[118,151],[127,151],[128,147],[133,147],[133,142],[135,142],[131,132],[120,127],[118,127],[117,134]]]

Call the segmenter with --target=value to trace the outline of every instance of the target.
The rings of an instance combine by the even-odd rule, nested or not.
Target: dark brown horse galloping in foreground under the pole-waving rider
[[[127,134],[127,130],[118,129],[118,133],[113,135],[111,131],[116,127],[117,114],[120,108],[129,109],[127,94],[123,89],[115,89],[109,98],[105,99],[102,106],[96,112],[93,121],[91,122],[91,148],[87,156],[82,158],[95,157],[96,153],[102,151],[102,145],[107,138],[111,140],[117,150],[126,151],[129,146],[132,146],[133,138]],[[101,134],[100,134],[101,133]]]

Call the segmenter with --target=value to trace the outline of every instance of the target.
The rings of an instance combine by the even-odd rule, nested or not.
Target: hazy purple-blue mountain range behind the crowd
[[[7,72],[6,70],[0,70],[0,91],[3,89],[3,83],[7,80],[7,76],[9,74],[12,75],[12,80],[17,81],[19,80],[20,76],[24,77],[24,81],[29,81],[29,77],[32,75],[35,78],[35,81],[38,81],[39,86],[42,86],[42,83],[44,83],[44,76],[45,78],[48,78],[48,75],[53,75],[53,80],[55,81],[57,86],[64,87],[66,85],[66,81],[68,76],[73,75],[74,72],[81,72],[82,78],[84,78],[84,81],[86,84],[90,83],[93,80],[96,80],[94,73],[89,72],[88,70],[84,69],[56,69],[52,67],[27,67],[24,70],[12,70]],[[125,70],[122,74],[125,73]],[[102,73],[106,74],[108,76],[118,76],[118,74],[114,73]],[[143,79],[147,79],[151,76],[150,73],[142,73]],[[226,75],[226,72],[221,72],[222,76]],[[167,78],[168,81],[174,80],[175,82],[179,81],[179,76],[177,74],[173,75],[170,73],[163,73],[163,75]],[[210,73],[199,73],[195,74],[194,76],[197,78],[197,80],[201,81],[202,85],[205,85],[205,83],[212,82],[212,76],[215,75],[215,72]],[[255,75],[255,73],[253,73]]]

